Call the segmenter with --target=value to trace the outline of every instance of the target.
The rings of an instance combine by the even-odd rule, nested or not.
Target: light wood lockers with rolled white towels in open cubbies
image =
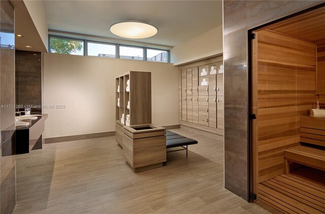
[[[223,135],[221,65],[222,56],[219,56],[180,67],[181,125]]]

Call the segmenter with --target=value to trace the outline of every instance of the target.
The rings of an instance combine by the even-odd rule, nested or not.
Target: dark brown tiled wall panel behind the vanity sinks
[[[16,105],[42,114],[42,53],[16,50],[15,72]]]

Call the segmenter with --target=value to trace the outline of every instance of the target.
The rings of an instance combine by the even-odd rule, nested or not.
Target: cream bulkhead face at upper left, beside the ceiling
[[[24,0],[24,4],[32,21],[35,24],[37,31],[40,34],[46,50],[48,51],[48,29],[43,1]]]

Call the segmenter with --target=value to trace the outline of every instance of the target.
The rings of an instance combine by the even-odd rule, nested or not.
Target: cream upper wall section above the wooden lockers
[[[174,65],[222,53],[222,25],[177,44],[171,50]]]

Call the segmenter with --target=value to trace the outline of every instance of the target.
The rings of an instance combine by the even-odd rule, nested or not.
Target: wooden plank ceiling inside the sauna
[[[272,24],[268,29],[294,35],[317,44],[325,43],[325,6]]]

